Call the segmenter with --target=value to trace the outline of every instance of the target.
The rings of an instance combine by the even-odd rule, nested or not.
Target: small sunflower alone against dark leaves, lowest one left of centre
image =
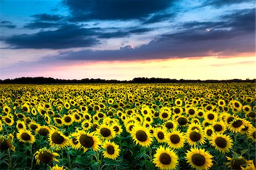
[[[103,143],[102,148],[104,148],[104,150],[102,151],[104,157],[108,157],[109,159],[117,159],[117,157],[119,156],[119,146],[114,142],[106,140]]]

